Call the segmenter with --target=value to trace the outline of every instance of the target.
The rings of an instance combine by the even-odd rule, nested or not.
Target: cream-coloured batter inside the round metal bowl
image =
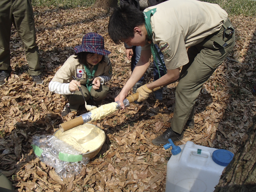
[[[91,124],[79,125],[65,132],[58,131],[55,136],[82,154],[99,148],[105,141],[104,131]]]

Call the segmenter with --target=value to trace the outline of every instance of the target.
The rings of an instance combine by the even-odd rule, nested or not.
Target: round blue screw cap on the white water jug
[[[217,149],[212,153],[212,160],[220,166],[227,166],[233,157],[234,154],[225,149]]]

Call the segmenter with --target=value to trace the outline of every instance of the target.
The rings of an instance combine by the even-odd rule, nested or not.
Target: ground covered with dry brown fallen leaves
[[[108,37],[109,13],[101,9],[34,8],[37,43],[44,67],[44,85],[35,85],[26,73],[28,66],[20,38],[11,37],[12,76],[0,89],[0,169],[16,191],[47,192],[159,192],[165,191],[169,150],[151,140],[170,126],[175,105],[175,86],[164,88],[164,99],[151,96],[143,105],[131,104],[97,122],[107,140],[102,151],[90,160],[80,175],[60,180],[54,169],[42,163],[32,151],[33,135],[51,135],[64,119],[60,113],[63,96],[48,90],[55,72],[73,54],[87,32],[98,32],[112,53],[113,79],[105,104],[113,102],[131,74],[124,47]],[[196,129],[186,130],[176,145],[191,140],[198,145],[224,148],[236,153],[244,131],[255,115],[256,18],[231,17],[236,27],[234,52],[204,85],[196,102]],[[240,63],[239,63],[240,62]],[[148,70],[145,82],[152,80]],[[81,112],[80,112],[81,113]],[[158,131],[160,130],[160,131]]]

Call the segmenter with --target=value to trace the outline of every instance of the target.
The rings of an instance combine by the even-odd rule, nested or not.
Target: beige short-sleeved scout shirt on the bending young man
[[[219,31],[227,20],[227,12],[220,6],[197,0],[168,0],[144,12],[154,8],[157,10],[151,16],[153,42],[163,52],[168,70],[187,64],[186,48]],[[148,49],[149,44],[142,48]]]

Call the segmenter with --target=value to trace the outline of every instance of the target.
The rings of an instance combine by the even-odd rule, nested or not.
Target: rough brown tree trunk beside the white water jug
[[[256,192],[256,118],[214,192]]]

